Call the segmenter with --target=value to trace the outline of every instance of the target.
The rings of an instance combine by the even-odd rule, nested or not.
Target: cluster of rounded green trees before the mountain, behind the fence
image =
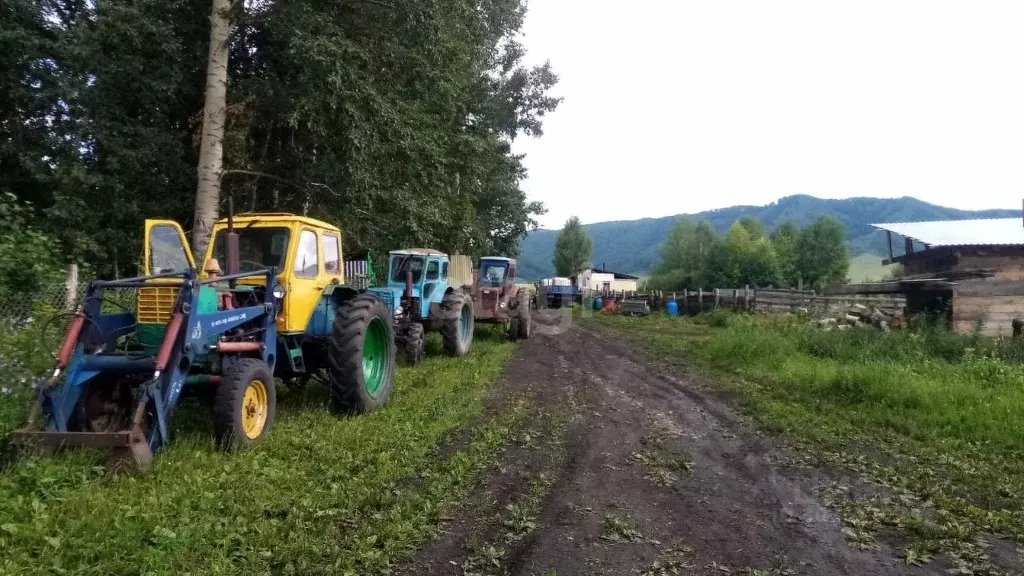
[[[816,287],[845,282],[849,266],[846,232],[835,218],[822,216],[803,230],[784,221],[769,237],[752,217],[735,220],[721,237],[707,221],[681,218],[662,246],[649,284],[660,290]]]

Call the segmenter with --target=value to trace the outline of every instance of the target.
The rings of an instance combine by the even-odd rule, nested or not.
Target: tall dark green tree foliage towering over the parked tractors
[[[515,255],[544,207],[511,142],[560,101],[550,65],[523,64],[523,0],[244,6],[222,200],[336,223],[349,254]],[[209,0],[0,4],[0,188],[68,259],[131,273],[143,218],[191,222],[209,15]]]

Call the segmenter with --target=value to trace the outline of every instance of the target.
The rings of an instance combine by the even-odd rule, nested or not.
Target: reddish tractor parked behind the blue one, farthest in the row
[[[529,290],[517,287],[516,261],[484,256],[473,285],[473,316],[477,322],[504,324],[513,340],[528,338],[531,324]]]

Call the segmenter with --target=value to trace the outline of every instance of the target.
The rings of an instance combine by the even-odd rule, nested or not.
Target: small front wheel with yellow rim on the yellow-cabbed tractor
[[[249,448],[266,436],[273,423],[278,411],[273,374],[265,362],[255,358],[240,358],[224,365],[223,377],[213,397],[217,446],[224,450]],[[257,382],[262,384],[262,403]],[[248,397],[247,392],[250,392]],[[262,417],[260,412],[263,412]],[[262,423],[256,429],[246,423],[247,418],[261,419]]]

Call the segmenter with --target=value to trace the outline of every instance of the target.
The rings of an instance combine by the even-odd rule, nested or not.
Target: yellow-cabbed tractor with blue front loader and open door
[[[270,428],[275,377],[321,376],[335,412],[387,402],[391,314],[346,286],[338,228],[286,213],[229,215],[214,225],[200,272],[181,227],[147,220],[144,257],[143,276],[90,285],[15,442],[105,447],[144,467],[169,442],[186,387],[212,393],[223,447]],[[135,289],[136,308],[108,310],[111,289]]]

